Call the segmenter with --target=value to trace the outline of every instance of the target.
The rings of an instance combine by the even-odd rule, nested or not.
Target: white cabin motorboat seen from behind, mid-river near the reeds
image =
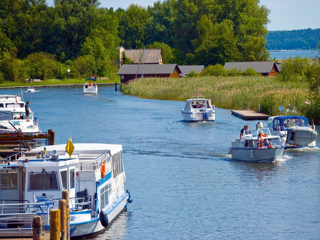
[[[181,109],[181,113],[185,122],[212,122],[215,120],[214,105],[211,104],[210,99],[200,93],[186,101],[186,106]]]

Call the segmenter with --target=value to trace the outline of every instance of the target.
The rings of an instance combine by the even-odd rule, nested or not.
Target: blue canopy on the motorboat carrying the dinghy
[[[280,126],[281,129],[299,126],[307,127],[309,124],[308,118],[298,115],[276,116],[273,119],[273,129],[276,130]]]

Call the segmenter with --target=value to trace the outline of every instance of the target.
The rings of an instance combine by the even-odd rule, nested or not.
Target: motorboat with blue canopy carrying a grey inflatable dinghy
[[[317,132],[313,121],[309,125],[307,117],[298,115],[294,107],[290,110],[290,104],[285,110],[280,106],[279,111],[278,116],[268,118],[265,126],[272,134],[280,136],[285,149],[316,146]],[[259,125],[263,124],[259,123]]]

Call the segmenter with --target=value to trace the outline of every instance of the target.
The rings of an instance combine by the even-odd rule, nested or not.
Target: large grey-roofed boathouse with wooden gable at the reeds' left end
[[[119,69],[121,83],[127,83],[132,79],[143,77],[176,77],[182,73],[177,64],[124,64]]]

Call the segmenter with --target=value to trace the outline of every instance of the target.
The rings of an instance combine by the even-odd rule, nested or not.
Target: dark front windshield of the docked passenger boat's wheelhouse
[[[28,190],[59,190],[57,172],[30,172]]]

